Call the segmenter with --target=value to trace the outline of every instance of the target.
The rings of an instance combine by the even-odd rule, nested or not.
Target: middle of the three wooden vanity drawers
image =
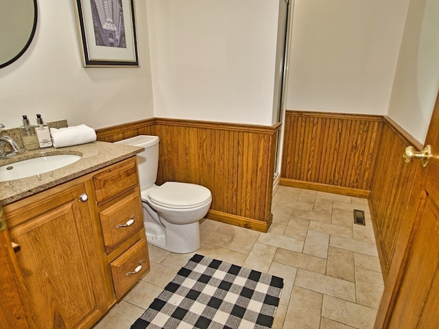
[[[132,234],[143,228],[139,187],[119,202],[99,212],[107,254]]]

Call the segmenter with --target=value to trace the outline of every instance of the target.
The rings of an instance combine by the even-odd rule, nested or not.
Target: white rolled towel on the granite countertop
[[[96,132],[86,125],[72,125],[65,128],[50,128],[54,147],[67,147],[96,141]]]

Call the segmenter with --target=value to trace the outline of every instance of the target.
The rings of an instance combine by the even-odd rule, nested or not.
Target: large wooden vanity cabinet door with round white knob
[[[106,311],[99,239],[84,183],[8,213],[38,328],[89,328]],[[11,226],[12,224],[12,226]]]

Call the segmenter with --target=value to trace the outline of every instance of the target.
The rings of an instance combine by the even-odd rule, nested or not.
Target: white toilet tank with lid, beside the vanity
[[[137,154],[141,190],[155,184],[158,171],[158,136],[139,135],[115,143],[145,147]]]

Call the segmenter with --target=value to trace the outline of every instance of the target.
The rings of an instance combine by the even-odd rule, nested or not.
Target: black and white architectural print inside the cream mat
[[[97,46],[126,48],[122,0],[90,0]]]

